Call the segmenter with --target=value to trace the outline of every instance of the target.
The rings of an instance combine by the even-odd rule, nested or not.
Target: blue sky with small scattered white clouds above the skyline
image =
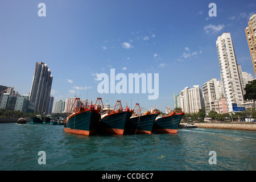
[[[39,3],[46,16],[38,15]],[[209,16],[210,3],[216,16]],[[248,0],[0,0],[0,85],[27,94],[35,63],[42,61],[53,76],[54,103],[102,97],[110,106],[121,100],[123,106],[174,109],[174,93],[220,80],[216,40],[223,32],[231,34],[237,64],[255,78],[245,34],[255,13],[256,2]],[[126,75],[127,83],[129,73],[152,73],[153,80],[158,74],[159,97],[148,100],[148,89],[99,93],[97,76],[110,79],[110,69]]]

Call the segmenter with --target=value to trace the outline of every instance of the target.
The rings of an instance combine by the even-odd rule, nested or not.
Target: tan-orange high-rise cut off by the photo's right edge
[[[245,28],[245,34],[253,61],[253,69],[256,76],[256,14],[251,16],[248,27]]]

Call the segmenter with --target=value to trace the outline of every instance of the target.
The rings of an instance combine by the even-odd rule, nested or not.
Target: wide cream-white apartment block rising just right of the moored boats
[[[199,88],[199,85],[194,85],[192,89],[186,87],[180,91],[177,102],[178,107],[185,113],[197,113],[199,109],[204,107],[202,89]]]

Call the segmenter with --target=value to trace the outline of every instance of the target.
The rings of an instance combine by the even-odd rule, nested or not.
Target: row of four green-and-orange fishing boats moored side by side
[[[135,112],[135,108],[138,111]],[[176,134],[184,113],[173,111],[166,116],[160,116],[155,110],[141,113],[139,104],[134,110],[122,107],[121,101],[117,101],[114,109],[103,108],[102,99],[97,98],[96,104],[82,105],[80,98],[76,98],[67,119],[64,122],[64,130],[67,133],[92,135],[98,134],[151,134],[172,133]]]

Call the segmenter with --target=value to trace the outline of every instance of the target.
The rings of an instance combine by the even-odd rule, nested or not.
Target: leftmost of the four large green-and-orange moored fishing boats
[[[92,135],[101,118],[97,109],[100,108],[93,104],[83,106],[80,98],[76,98],[64,122],[64,130],[67,133]]]

